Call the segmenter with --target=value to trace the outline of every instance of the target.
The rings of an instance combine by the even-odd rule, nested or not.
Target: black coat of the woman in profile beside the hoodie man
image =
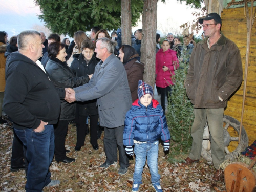
[[[46,70],[56,87],[75,88],[89,82],[88,76],[75,77],[75,74],[68,67],[66,62],[57,58],[49,58]],[[68,103],[61,99],[60,118],[61,121],[70,121],[75,118],[75,103]]]

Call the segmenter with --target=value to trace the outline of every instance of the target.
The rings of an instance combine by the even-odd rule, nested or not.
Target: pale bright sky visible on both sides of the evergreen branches
[[[0,31],[8,33],[8,39],[20,32],[33,29],[35,26],[44,26],[44,22],[38,19],[40,8],[35,5],[34,0],[0,0]],[[166,4],[158,2],[158,24],[157,32],[161,35],[166,32],[176,34],[179,32],[179,26],[194,19],[192,12],[200,10],[191,9],[185,2],[180,3],[177,0],[166,0]],[[132,31],[142,28],[142,23]]]

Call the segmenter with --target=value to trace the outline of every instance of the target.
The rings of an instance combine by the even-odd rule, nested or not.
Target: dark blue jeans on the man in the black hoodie
[[[42,132],[33,129],[15,129],[18,138],[27,147],[26,157],[29,162],[26,191],[42,191],[51,182],[49,166],[54,155],[53,125],[45,125]]]

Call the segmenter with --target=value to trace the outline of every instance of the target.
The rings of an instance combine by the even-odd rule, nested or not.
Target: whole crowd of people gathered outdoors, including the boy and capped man
[[[153,187],[163,191],[158,146],[161,139],[164,151],[169,150],[165,97],[172,93],[173,76],[181,61],[189,62],[185,85],[195,105],[192,150],[182,165],[198,162],[207,119],[217,169],[214,179],[221,179],[219,165],[225,160],[222,118],[227,99],[241,84],[242,64],[237,46],[220,32],[217,13],[200,18],[199,23],[206,38],[197,45],[189,35],[182,45],[172,33],[160,45],[156,34],[156,86],[161,105],[153,99],[153,88],[143,81],[146,63],[140,62],[141,29],[132,34],[131,45],[120,43],[120,29],[110,36],[97,26],[90,37],[75,32],[71,42],[68,38],[61,42],[57,34],[46,38],[44,32],[27,30],[7,43],[8,34],[1,31],[0,112],[3,105],[13,122],[11,170],[26,170],[26,191],[42,191],[60,183],[51,180],[49,171],[54,154],[57,162],[75,161],[67,157],[65,148],[68,124],[73,120],[75,151],[81,150],[89,133],[92,148],[98,150],[103,127],[106,159],[99,167],[106,169],[119,162],[118,174],[123,175],[129,167],[128,156],[135,155],[132,191],[138,191],[147,158]],[[189,59],[182,58],[184,49]],[[0,117],[0,123],[6,120]]]

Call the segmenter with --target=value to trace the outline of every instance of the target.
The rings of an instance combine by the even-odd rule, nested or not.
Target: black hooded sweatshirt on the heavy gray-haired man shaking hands
[[[56,124],[64,89],[57,89],[48,75],[31,59],[18,52],[6,61],[3,110],[17,129],[36,129],[41,120]]]

